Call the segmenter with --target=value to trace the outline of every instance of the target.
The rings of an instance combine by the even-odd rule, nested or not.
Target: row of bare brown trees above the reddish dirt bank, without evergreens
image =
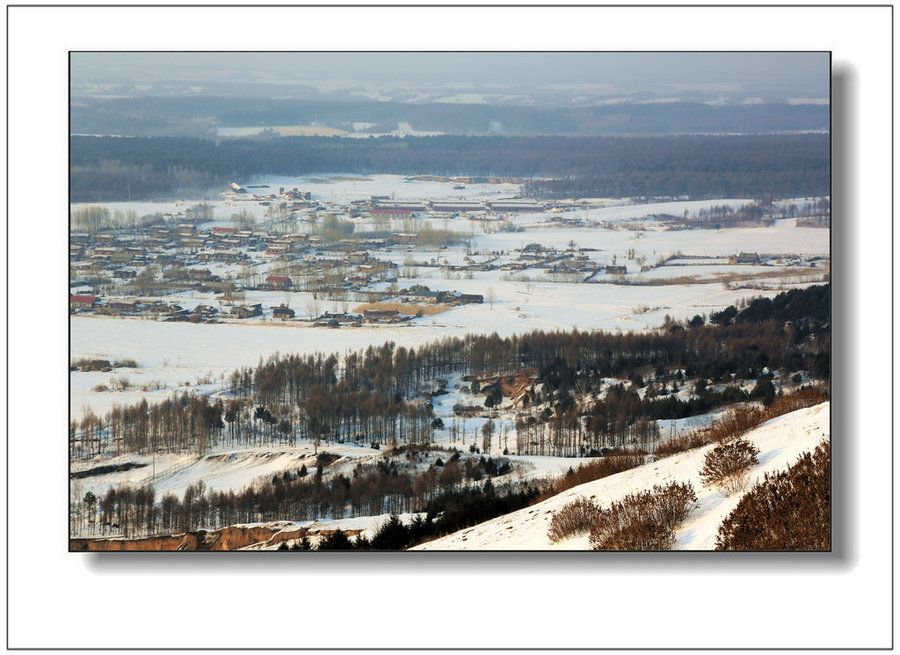
[[[99,498],[89,491],[73,499],[72,534],[138,537],[285,518],[424,511],[442,494],[463,491],[485,477],[511,470],[506,460],[463,459],[455,454],[425,470],[407,470],[391,460],[357,465],[349,477],[326,476],[328,461],[323,454],[312,473],[305,467],[284,471],[241,491],[211,491],[202,481],[190,485],[181,498],[172,493],[159,497],[151,485],[109,487]]]

